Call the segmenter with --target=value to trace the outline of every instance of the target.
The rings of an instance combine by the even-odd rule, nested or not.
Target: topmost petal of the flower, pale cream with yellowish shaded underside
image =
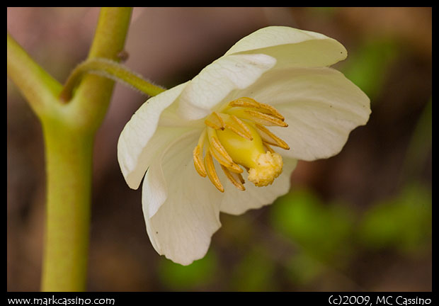
[[[325,67],[348,55],[333,38],[285,26],[261,28],[236,42],[225,55],[255,53],[275,57],[276,67]]]

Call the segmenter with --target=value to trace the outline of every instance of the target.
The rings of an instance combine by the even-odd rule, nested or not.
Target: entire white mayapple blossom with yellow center
[[[132,115],[118,160],[130,188],[144,180],[144,219],[159,254],[183,265],[202,258],[220,212],[268,205],[289,190],[298,159],[340,152],[370,115],[363,91],[329,68],[346,56],[325,35],[262,28]]]

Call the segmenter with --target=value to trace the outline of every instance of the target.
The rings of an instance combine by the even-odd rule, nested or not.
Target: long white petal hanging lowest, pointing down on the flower
[[[148,169],[142,209],[154,249],[176,263],[188,265],[205,256],[212,234],[220,228],[222,193],[193,166],[199,134],[175,140],[161,160]]]

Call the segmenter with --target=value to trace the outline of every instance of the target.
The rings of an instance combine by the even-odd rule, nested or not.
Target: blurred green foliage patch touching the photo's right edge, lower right
[[[431,190],[418,183],[406,186],[397,198],[376,203],[359,227],[360,242],[372,249],[401,251],[431,243]]]

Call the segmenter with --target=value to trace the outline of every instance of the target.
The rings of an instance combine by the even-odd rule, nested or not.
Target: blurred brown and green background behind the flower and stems
[[[86,58],[98,8],[8,8],[9,33],[59,81]],[[96,136],[91,291],[431,290],[431,8],[135,8],[125,62],[156,84],[194,77],[265,26],[324,33],[371,99],[341,154],[299,162],[274,205],[221,215],[210,251],[183,267],[147,237],[118,136],[145,97],[118,84]],[[39,290],[45,171],[38,119],[7,83],[7,288]],[[67,174],[68,175],[68,174]]]

